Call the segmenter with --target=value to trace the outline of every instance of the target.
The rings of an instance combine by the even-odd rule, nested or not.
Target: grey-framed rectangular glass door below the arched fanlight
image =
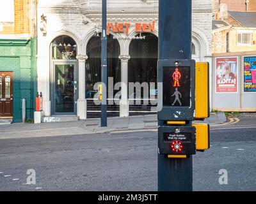
[[[54,62],[53,112],[56,115],[76,114],[76,63]]]

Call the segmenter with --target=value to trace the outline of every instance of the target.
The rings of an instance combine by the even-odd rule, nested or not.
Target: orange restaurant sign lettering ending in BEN
[[[124,33],[129,34],[129,28],[131,24],[129,23],[108,23],[107,25],[107,34],[109,34],[109,31],[113,31],[114,33]],[[153,20],[152,23],[136,23],[135,24],[135,30],[138,33],[150,33],[155,31],[155,21]]]

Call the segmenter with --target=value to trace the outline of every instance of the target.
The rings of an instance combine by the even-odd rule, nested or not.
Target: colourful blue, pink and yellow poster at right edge
[[[244,92],[256,92],[256,56],[244,57]]]

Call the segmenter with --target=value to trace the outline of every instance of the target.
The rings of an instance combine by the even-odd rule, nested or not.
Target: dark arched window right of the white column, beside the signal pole
[[[143,38],[135,38],[131,41],[128,80],[133,83],[140,82],[140,84],[146,82],[148,93],[145,96],[144,90],[141,90],[141,96],[138,99],[138,96],[134,94],[135,89],[129,90],[129,115],[150,113],[150,106],[156,106],[156,100],[151,103],[150,98],[157,98],[158,38],[151,33],[141,33],[137,36],[143,36]],[[137,99],[133,101],[132,97]],[[140,105],[138,105],[138,100],[140,100]]]

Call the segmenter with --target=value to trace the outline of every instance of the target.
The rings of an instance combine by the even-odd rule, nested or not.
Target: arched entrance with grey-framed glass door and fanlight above
[[[69,36],[51,43],[51,113],[75,115],[77,103],[77,45]]]

